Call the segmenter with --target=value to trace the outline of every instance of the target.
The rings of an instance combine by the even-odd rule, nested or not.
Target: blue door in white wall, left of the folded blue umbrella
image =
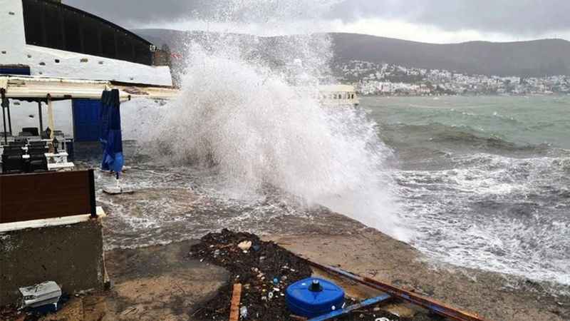
[[[101,101],[73,99],[73,138],[75,141],[99,141]]]

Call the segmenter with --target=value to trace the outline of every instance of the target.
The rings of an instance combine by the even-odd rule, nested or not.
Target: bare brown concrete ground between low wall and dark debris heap
[[[114,286],[73,297],[42,321],[195,320],[192,312],[227,282],[221,267],[188,258],[193,241],[105,253]]]

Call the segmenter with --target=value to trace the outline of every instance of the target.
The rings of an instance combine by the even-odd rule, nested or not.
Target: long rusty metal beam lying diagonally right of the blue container
[[[444,305],[441,302],[437,302],[436,300],[415,294],[414,292],[406,291],[398,287],[394,287],[393,285],[388,285],[386,283],[373,280],[368,277],[363,277],[360,275],[353,274],[351,272],[346,272],[345,270],[341,270],[337,267],[321,265],[306,259],[304,260],[306,261],[306,263],[309,263],[309,265],[317,267],[321,270],[330,272],[332,274],[341,275],[343,277],[347,277],[350,280],[359,282],[363,285],[367,285],[368,287],[373,287],[376,290],[386,292],[389,295],[392,295],[393,297],[398,297],[405,301],[411,302],[415,305],[420,305],[421,307],[425,307],[427,310],[430,310],[431,312],[434,312],[438,315],[442,315],[443,317],[449,317],[450,319],[457,321],[485,321],[485,319],[479,317],[478,315],[472,314],[470,312],[457,310],[453,307]]]

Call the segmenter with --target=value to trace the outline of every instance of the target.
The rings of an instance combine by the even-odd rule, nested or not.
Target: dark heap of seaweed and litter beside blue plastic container
[[[249,253],[244,253],[237,245],[244,240],[252,242]],[[253,245],[259,245],[259,250],[253,250]],[[293,317],[286,305],[286,288],[300,280],[311,277],[312,270],[306,260],[289,252],[273,242],[264,242],[257,235],[250,233],[222,230],[219,233],[209,233],[200,242],[192,245],[190,256],[206,263],[224,267],[229,272],[229,280],[237,280],[242,284],[239,302],[239,316],[244,320],[306,320],[306,317]],[[261,258],[264,258],[261,260]],[[277,283],[274,282],[277,279]],[[235,282],[237,283],[237,282]],[[279,290],[277,290],[279,289]],[[270,294],[271,293],[271,294]],[[228,320],[233,294],[233,283],[230,282],[219,288],[212,299],[203,302],[192,312],[195,320]],[[345,298],[346,305],[357,304],[357,300]],[[343,308],[342,304],[334,303],[336,311]],[[247,307],[247,317],[242,317],[242,307]],[[330,306],[329,306],[330,307]],[[372,306],[362,308],[343,315],[340,320],[363,320],[359,317],[364,313],[364,320],[375,320],[378,317],[389,317],[390,320],[400,320],[384,310],[373,312]],[[331,312],[327,310],[326,312]],[[298,318],[297,318],[298,317]],[[408,320],[408,319],[406,319]],[[413,319],[409,319],[413,320]],[[429,318],[420,320],[430,320]]]

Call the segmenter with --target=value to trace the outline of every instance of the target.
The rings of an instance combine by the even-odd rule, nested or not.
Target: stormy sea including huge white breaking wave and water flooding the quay
[[[327,9],[235,1],[216,21],[245,11],[276,30],[300,3],[308,21]],[[570,286],[569,96],[361,97],[323,108],[318,85],[341,83],[326,34],[255,46],[229,32],[204,37],[185,46],[179,97],[121,106],[123,184],[135,193],[98,193],[106,248],[221,228],[366,226],[434,261]],[[113,179],[98,173],[98,188]]]

